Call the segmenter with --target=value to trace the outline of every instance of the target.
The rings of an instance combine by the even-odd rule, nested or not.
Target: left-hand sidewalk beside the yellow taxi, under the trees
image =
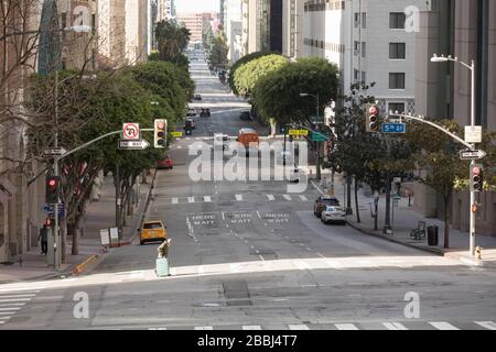
[[[142,215],[147,205],[153,175],[148,176],[148,184],[140,185],[139,204],[134,208],[134,215],[128,217],[128,226],[123,228],[122,243],[132,242],[140,227]],[[40,248],[18,255],[12,260],[12,265],[0,266],[0,284],[45,279],[58,276],[71,276],[80,273],[91,262],[98,258],[101,252],[100,229],[111,228],[116,221],[116,190],[112,176],[107,176],[100,188],[99,200],[88,204],[85,219],[83,220],[83,237],[79,238],[78,255],[71,255],[72,238],[67,238],[66,262],[56,271],[46,264],[46,256],[40,254]],[[110,251],[115,251],[111,249]]]

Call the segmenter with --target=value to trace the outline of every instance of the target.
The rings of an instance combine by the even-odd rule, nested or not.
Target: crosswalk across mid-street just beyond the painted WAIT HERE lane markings
[[[248,199],[249,198],[249,199]],[[205,202],[218,202],[218,201],[282,201],[282,202],[309,202],[309,198],[304,195],[208,195],[208,196],[193,196],[193,197],[155,197],[155,206],[177,206],[177,205],[192,205],[192,204],[205,204]]]

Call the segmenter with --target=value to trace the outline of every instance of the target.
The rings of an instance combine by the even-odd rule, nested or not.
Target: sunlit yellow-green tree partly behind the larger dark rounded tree
[[[240,96],[250,96],[254,92],[257,81],[269,73],[278,70],[289,63],[282,55],[272,54],[255,58],[246,65],[239,67],[234,77],[236,91]]]

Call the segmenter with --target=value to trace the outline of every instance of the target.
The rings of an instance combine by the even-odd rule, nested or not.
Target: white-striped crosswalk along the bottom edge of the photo
[[[459,324],[459,327],[456,327]],[[290,323],[290,324],[246,324],[246,326],[197,326],[197,327],[153,327],[148,330],[495,330],[494,321],[384,321],[384,322],[339,322],[339,323]]]

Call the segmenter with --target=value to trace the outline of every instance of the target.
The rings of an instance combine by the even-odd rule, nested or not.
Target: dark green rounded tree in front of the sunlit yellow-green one
[[[311,124],[316,113],[316,101],[300,94],[320,96],[319,111],[336,99],[338,69],[322,58],[300,58],[261,77],[254,88],[254,103],[267,120],[274,118],[280,124],[304,122]]]

